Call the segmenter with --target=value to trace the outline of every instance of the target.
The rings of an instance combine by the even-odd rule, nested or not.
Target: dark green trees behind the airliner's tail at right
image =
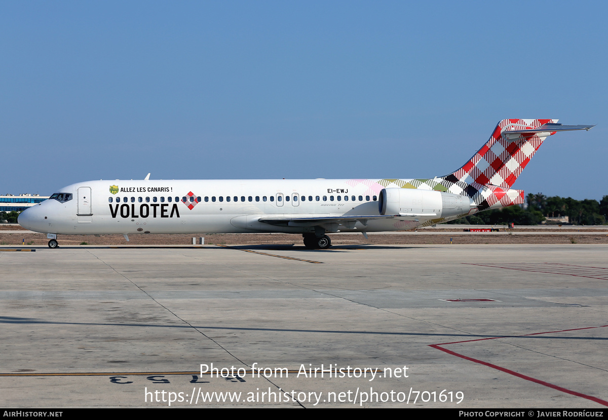
[[[568,216],[570,224],[601,225],[608,219],[608,195],[601,201],[547,197],[542,193],[528,194],[527,208],[512,205],[500,210],[486,210],[476,215],[457,219],[449,224],[509,224],[536,225],[548,217]]]

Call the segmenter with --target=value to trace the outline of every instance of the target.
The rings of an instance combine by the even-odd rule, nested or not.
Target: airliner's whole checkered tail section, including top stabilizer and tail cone
[[[542,142],[558,131],[589,130],[595,125],[562,125],[558,120],[502,120],[485,145],[460,169],[440,177],[447,191],[469,196],[477,207],[523,204],[523,190],[511,186]]]

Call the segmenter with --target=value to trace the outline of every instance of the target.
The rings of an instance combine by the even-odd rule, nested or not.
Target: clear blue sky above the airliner
[[[514,188],[608,195],[604,2],[0,4],[0,193],[91,179],[432,177],[499,120]]]

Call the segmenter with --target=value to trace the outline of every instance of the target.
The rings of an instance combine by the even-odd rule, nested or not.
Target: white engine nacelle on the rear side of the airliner
[[[468,197],[441,191],[417,190],[416,188],[384,188],[378,196],[378,210],[384,215],[437,215],[449,218],[469,212]]]

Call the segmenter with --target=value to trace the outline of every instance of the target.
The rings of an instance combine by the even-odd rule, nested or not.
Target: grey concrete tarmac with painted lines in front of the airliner
[[[0,404],[607,407],[607,252],[1,246]]]

